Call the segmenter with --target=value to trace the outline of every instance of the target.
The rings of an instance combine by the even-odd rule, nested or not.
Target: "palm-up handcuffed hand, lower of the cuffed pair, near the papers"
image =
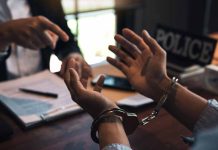
[[[104,82],[104,76],[101,76],[96,83],[94,90],[87,90],[88,78],[79,78],[77,71],[73,68],[67,69],[68,75],[64,81],[70,91],[72,99],[87,111],[93,118],[97,117],[101,112],[117,108],[118,106],[104,97],[100,92]]]

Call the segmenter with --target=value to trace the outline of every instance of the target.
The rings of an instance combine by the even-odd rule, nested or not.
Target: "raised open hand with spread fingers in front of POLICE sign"
[[[109,46],[119,60],[108,57],[107,61],[121,70],[138,92],[159,99],[170,81],[166,73],[166,52],[145,30],[140,37],[130,29],[123,29],[123,36],[118,34],[115,40],[125,50]]]

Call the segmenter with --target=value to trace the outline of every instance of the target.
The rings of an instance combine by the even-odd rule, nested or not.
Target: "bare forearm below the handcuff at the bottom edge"
[[[100,148],[110,144],[122,144],[130,147],[121,121],[103,122],[98,129]]]

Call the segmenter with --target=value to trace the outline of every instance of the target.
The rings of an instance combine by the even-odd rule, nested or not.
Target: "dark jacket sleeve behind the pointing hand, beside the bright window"
[[[42,15],[47,17],[69,35],[69,41],[63,42],[59,40],[56,49],[54,50],[54,53],[59,59],[63,59],[72,52],[81,53],[74,35],[67,26],[61,0],[29,0],[29,4],[34,16]]]

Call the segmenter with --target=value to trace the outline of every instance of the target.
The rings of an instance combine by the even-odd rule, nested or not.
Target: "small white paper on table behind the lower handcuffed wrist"
[[[145,97],[141,94],[136,94],[136,95],[129,96],[127,98],[124,98],[124,99],[117,101],[117,105],[139,107],[139,106],[142,106],[145,104],[150,104],[152,102],[153,102],[152,99]]]

